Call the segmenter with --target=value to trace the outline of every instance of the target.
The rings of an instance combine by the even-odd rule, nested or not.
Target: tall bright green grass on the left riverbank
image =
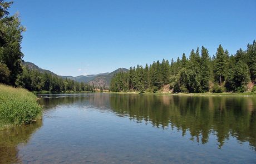
[[[0,129],[28,124],[41,116],[36,95],[23,88],[0,84]]]

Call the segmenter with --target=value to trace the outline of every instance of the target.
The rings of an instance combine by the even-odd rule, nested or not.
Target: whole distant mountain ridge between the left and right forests
[[[53,73],[47,69],[42,69],[38,67],[36,64],[31,63],[31,62],[23,62],[24,66],[28,66],[29,69],[37,69],[41,73],[50,73],[50,74],[56,74]],[[95,86],[97,88],[109,88],[110,82],[114,74],[119,73],[119,72],[127,72],[129,69],[126,68],[118,68],[113,72],[106,72],[106,73],[99,73],[99,74],[88,74],[88,75],[80,75],[80,76],[60,76],[61,78],[69,78],[72,79],[73,81],[77,82],[85,82],[88,83],[89,85]]]

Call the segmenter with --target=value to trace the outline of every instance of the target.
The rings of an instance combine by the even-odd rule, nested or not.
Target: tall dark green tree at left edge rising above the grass
[[[0,1],[0,63],[6,64],[9,69],[8,84],[15,85],[21,73],[22,32],[26,29],[21,25],[18,14],[9,16],[8,8],[12,2]]]

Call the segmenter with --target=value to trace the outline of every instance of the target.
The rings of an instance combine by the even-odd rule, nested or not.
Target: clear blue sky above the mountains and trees
[[[189,56],[221,44],[231,53],[256,39],[256,1],[14,0],[25,61],[61,75]]]

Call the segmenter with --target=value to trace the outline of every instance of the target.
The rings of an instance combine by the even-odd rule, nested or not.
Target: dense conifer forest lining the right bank
[[[190,52],[189,58],[183,53],[176,61],[163,59],[145,67],[137,65],[129,72],[117,73],[112,78],[113,92],[156,92],[168,86],[173,92],[245,92],[248,84],[253,86],[256,78],[256,43],[247,45],[230,55],[219,45],[216,54],[210,57],[202,46]],[[250,88],[252,89],[252,87]],[[256,90],[255,86],[253,91]]]

